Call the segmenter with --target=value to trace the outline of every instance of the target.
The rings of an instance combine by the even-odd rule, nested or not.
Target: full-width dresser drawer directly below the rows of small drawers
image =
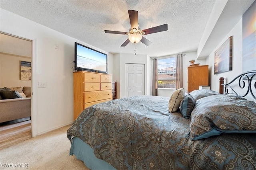
[[[102,90],[97,92],[84,92],[84,103],[111,99],[112,90]]]

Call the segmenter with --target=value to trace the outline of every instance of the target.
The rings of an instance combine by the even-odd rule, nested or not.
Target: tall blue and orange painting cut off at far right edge
[[[243,15],[243,72],[256,70],[256,1]]]

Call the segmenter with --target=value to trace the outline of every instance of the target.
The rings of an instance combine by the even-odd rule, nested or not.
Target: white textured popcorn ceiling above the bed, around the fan
[[[214,0],[1,0],[0,8],[74,37],[110,53],[134,53],[120,47],[128,35],[104,30],[130,29],[128,10],[138,11],[139,27],[167,23],[168,30],[144,35],[151,45],[136,44],[136,54],[150,57],[196,51]]]

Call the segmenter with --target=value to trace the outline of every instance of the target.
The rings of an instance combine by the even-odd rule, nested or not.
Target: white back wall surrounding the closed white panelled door
[[[139,54],[115,54],[114,55],[114,81],[117,83],[117,97],[124,98],[125,97],[125,64],[145,64],[145,95],[150,95],[148,88],[150,85],[148,82],[149,72],[148,72],[148,60],[149,57],[147,55],[139,55]]]

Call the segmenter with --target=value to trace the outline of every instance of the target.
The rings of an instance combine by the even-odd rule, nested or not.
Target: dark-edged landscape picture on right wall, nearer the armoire
[[[232,70],[232,38],[229,37],[214,52],[214,74]]]

